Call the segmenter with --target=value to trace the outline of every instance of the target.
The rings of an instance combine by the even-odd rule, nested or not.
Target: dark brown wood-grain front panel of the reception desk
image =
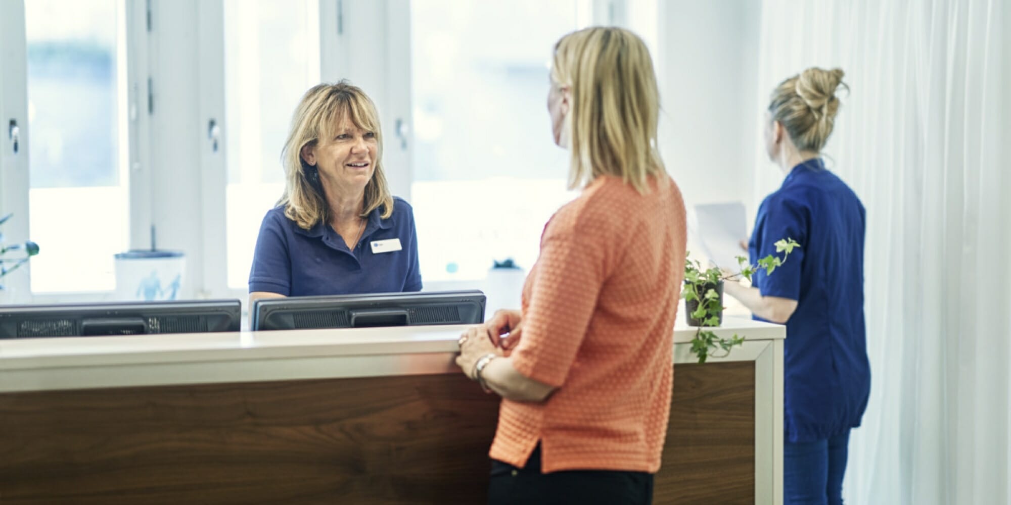
[[[678,365],[655,503],[753,503],[754,365]],[[0,394],[0,504],[483,503],[460,375]]]

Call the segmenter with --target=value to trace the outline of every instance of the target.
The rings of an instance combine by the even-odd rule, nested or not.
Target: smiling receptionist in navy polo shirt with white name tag
[[[282,152],[285,187],[260,226],[258,298],[421,291],[407,202],[390,195],[375,105],[345,81],[308,90]]]

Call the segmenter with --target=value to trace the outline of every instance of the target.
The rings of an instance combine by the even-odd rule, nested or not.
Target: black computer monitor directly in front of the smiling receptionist
[[[484,293],[443,291],[267,298],[253,304],[253,329],[362,328],[484,321]]]

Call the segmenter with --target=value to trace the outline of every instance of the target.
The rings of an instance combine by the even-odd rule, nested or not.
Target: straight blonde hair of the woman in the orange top
[[[572,97],[569,189],[616,176],[647,191],[647,178],[664,168],[656,148],[656,75],[642,39],[615,27],[569,33],[555,44],[551,79]]]

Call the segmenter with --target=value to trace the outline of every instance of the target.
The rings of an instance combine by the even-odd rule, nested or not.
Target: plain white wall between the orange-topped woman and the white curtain
[[[753,0],[659,2],[660,152],[685,203],[749,203],[756,128]]]

